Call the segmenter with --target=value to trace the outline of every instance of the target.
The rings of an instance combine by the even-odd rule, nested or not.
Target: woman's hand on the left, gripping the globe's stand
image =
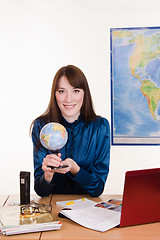
[[[51,169],[48,166],[59,167],[62,166],[61,153],[49,154],[43,159],[42,170],[44,171],[45,180],[50,183],[56,170]]]

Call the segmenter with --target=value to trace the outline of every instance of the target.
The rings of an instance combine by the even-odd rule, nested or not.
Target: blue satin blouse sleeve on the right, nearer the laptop
[[[76,176],[70,174],[70,177],[77,181],[92,197],[98,197],[102,194],[110,162],[110,127],[108,121],[101,118],[97,124],[97,129],[96,154],[91,171],[87,172],[81,167]]]

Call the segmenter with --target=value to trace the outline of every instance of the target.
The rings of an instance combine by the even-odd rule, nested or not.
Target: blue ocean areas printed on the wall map
[[[141,92],[141,81],[131,75],[129,58],[134,51],[134,44],[112,48],[116,66],[112,73],[112,109],[114,115],[114,136],[160,137],[160,120],[155,120],[150,113],[147,99]],[[150,61],[145,69],[145,78],[160,88],[160,60]],[[160,116],[160,103],[157,107]]]

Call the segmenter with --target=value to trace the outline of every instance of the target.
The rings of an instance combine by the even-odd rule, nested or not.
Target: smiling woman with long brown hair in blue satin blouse
[[[58,122],[68,132],[58,155],[40,144],[40,130],[48,122]],[[110,128],[105,118],[95,114],[86,77],[79,68],[68,65],[58,70],[48,108],[32,126],[38,195],[102,194],[109,172]],[[68,167],[52,170],[49,165]]]

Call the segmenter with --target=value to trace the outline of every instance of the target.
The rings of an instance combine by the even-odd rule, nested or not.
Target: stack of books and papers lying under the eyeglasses
[[[57,230],[60,228],[60,221],[52,213],[21,215],[20,206],[0,207],[0,232],[4,235]]]

